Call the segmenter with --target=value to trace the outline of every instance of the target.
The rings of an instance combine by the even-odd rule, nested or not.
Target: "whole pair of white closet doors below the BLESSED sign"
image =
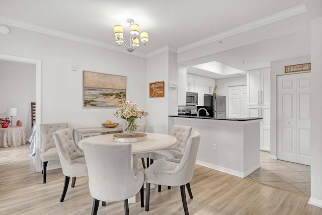
[[[310,165],[310,73],[277,77],[277,158]]]

